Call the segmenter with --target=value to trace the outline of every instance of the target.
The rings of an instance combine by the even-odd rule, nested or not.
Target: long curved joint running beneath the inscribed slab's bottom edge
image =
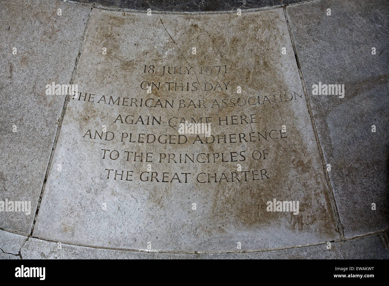
[[[27,237],[25,243],[30,238],[38,239],[38,240],[44,240],[47,242],[55,242],[55,243],[62,243],[66,245],[72,245],[72,246],[80,246],[80,247],[89,247],[89,248],[95,248],[95,249],[107,249],[107,250],[117,250],[117,251],[129,251],[129,252],[139,252],[139,253],[171,253],[171,254],[244,254],[244,253],[257,253],[257,252],[269,252],[269,251],[278,251],[278,250],[285,250],[285,249],[293,249],[293,248],[301,248],[301,247],[309,247],[309,246],[318,246],[318,245],[324,245],[328,242],[345,242],[350,240],[356,240],[361,239],[364,237],[371,237],[371,236],[377,236],[377,235],[385,235],[386,232],[389,231],[388,229],[384,230],[377,230],[375,232],[368,232],[361,235],[355,235],[353,237],[346,237],[344,239],[335,239],[330,241],[322,241],[322,242],[312,242],[308,244],[301,244],[301,245],[294,245],[294,246],[281,246],[281,247],[273,247],[273,248],[263,248],[263,249],[244,249],[244,250],[231,250],[231,251],[174,251],[174,250],[163,250],[163,249],[131,249],[131,248],[120,248],[120,247],[103,247],[103,246],[94,246],[94,245],[88,245],[88,244],[78,244],[74,242],[64,242],[64,241],[58,241],[58,240],[52,240],[52,239],[45,239],[42,237],[37,237],[34,235],[26,235],[25,233],[19,233],[14,230],[8,230],[6,228],[0,227],[0,230],[4,230],[6,232],[15,233],[18,235],[22,235]],[[24,243],[24,244],[25,244]],[[23,246],[24,246],[23,244]],[[21,248],[23,248],[23,246]]]

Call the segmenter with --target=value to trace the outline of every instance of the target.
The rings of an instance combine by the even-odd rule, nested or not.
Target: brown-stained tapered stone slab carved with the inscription
[[[74,83],[33,235],[175,251],[339,238],[282,9],[93,9]]]

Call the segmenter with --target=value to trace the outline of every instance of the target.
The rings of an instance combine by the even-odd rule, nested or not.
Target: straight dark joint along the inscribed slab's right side
[[[317,148],[318,148],[320,159],[321,159],[321,163],[322,163],[322,168],[323,168],[323,172],[324,172],[324,179],[325,179],[326,185],[327,185],[327,187],[329,189],[329,192],[328,192],[329,193],[329,199],[331,201],[333,212],[335,214],[335,219],[336,219],[336,225],[337,225],[337,228],[338,228],[338,233],[340,234],[340,238],[344,239],[345,237],[344,237],[344,230],[343,230],[343,226],[342,226],[342,221],[340,220],[340,216],[339,216],[339,212],[338,212],[338,206],[336,205],[335,195],[334,195],[334,192],[333,192],[333,188],[332,188],[332,185],[331,185],[331,180],[329,179],[329,174],[328,174],[327,167],[326,167],[326,161],[324,160],[324,152],[323,152],[323,149],[322,149],[321,144],[320,144],[319,135],[317,133],[316,124],[315,124],[315,119],[314,119],[314,116],[312,114],[312,108],[311,108],[311,104],[310,104],[309,97],[308,97],[308,92],[307,92],[307,86],[306,86],[305,81],[304,81],[303,72],[301,70],[301,65],[300,65],[300,60],[298,58],[297,49],[296,49],[296,46],[294,44],[291,26],[290,26],[289,19],[288,19],[287,13],[286,13],[286,6],[284,6],[283,9],[284,9],[284,16],[285,16],[285,20],[286,20],[286,25],[287,25],[287,28],[288,28],[289,36],[290,36],[292,47],[293,47],[294,57],[296,58],[297,68],[298,68],[298,72],[300,74],[301,85],[303,86],[303,93],[304,93],[304,96],[305,96],[305,100],[307,102],[308,114],[309,114],[309,117],[311,119],[312,128],[313,128],[313,131],[314,131],[314,135],[315,135],[315,139],[316,139],[316,144],[317,144]]]

